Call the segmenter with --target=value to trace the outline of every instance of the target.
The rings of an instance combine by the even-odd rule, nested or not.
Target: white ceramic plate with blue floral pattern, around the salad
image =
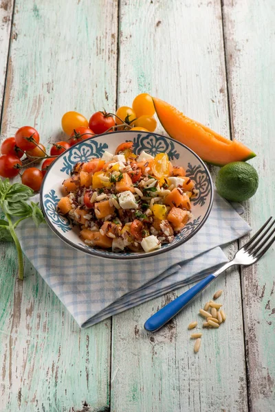
[[[133,141],[133,152],[139,155],[142,150],[152,156],[157,153],[167,153],[174,165],[182,166],[186,170],[186,176],[195,181],[195,188],[199,190],[197,197],[192,199],[192,218],[181,232],[175,236],[173,242],[163,244],[161,249],[151,253],[122,252],[114,253],[104,249],[89,247],[79,237],[79,227],[73,226],[65,216],[58,213],[56,207],[63,196],[61,183],[70,175],[76,162],[89,161],[92,157],[102,157],[104,150],[115,152],[115,148],[124,141]],[[212,179],[206,165],[192,150],[183,144],[156,133],[139,131],[119,131],[98,135],[92,139],[67,149],[52,163],[41,187],[41,207],[50,228],[65,243],[99,258],[109,259],[140,259],[148,258],[159,253],[168,252],[180,244],[187,242],[201,229],[206,222],[213,203]]]

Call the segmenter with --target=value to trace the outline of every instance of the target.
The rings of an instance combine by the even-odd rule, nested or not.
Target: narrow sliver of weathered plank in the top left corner
[[[10,46],[10,30],[12,27],[12,12],[14,0],[0,1],[0,118],[3,103],[5,73]]]

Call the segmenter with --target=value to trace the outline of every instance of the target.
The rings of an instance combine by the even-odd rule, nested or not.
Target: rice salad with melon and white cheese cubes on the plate
[[[192,217],[195,183],[166,153],[135,155],[133,142],[113,155],[76,163],[63,181],[58,211],[80,226],[91,247],[146,253],[170,243]]]

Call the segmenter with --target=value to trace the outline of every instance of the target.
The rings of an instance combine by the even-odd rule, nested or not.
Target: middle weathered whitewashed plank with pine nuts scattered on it
[[[124,0],[120,16],[119,104],[147,91],[230,137],[219,1]],[[232,255],[236,245],[227,250]],[[187,325],[218,288],[228,319],[203,332],[195,356]],[[144,321],[186,289],[113,318],[113,411],[248,410],[238,271],[159,332],[144,332]]]

